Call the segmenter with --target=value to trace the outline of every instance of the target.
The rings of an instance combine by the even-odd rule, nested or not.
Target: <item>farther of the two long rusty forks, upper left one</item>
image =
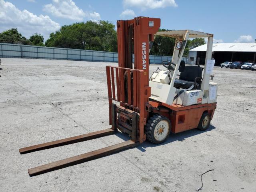
[[[88,134],[83,134],[79,136],[74,136],[70,138],[60,139],[52,142],[47,142],[47,143],[42,143],[42,144],[30,146],[30,147],[21,148],[19,149],[19,151],[20,151],[20,154],[25,154],[25,153],[30,153],[34,151],[50,149],[58,146],[91,140],[91,139],[107,136],[114,133],[116,133],[116,130],[109,128],[109,129],[100,130],[100,131],[96,131]]]

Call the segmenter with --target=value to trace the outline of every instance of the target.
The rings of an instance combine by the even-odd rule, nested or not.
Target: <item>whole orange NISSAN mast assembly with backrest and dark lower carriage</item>
[[[148,119],[148,111],[146,111],[145,105],[151,96],[151,88],[148,86],[149,52],[154,42],[154,34],[159,28],[159,18],[137,17],[132,20],[118,20],[118,68],[114,70],[114,67],[106,67],[110,124],[113,129],[118,128],[130,136],[136,135],[132,137],[135,142],[146,140],[144,125]],[[134,54],[134,68],[132,54]],[[113,84],[113,82],[116,82],[116,84]],[[138,122],[134,122],[134,118],[128,118],[127,111],[120,112],[120,107],[113,110],[112,108],[116,107],[112,104],[113,100],[120,102],[120,107],[138,113]],[[117,120],[116,113],[121,115],[122,118]],[[127,126],[129,121],[131,127],[132,124],[138,123],[138,134],[137,132],[130,132],[134,131],[134,128]]]

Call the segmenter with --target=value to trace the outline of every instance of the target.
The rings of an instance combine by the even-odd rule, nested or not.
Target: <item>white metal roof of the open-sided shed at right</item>
[[[190,51],[206,51],[206,48],[207,44],[204,44]],[[256,52],[256,43],[214,43],[212,51]]]

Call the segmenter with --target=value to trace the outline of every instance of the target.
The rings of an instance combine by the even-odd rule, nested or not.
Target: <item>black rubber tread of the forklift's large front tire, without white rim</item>
[[[167,130],[167,134],[166,134],[165,138],[162,140],[157,140],[157,138],[155,138],[155,136],[154,136],[154,131],[157,128],[158,123],[161,121],[166,121],[169,125],[169,128]],[[170,120],[168,118],[166,118],[165,116],[162,116],[159,114],[155,114],[152,117],[150,117],[146,124],[146,127],[145,127],[146,139],[155,144],[160,144],[160,143],[165,142],[166,139],[168,139],[168,137],[170,135],[170,131],[171,131]],[[163,128],[162,132],[164,132],[164,128]],[[158,133],[158,135],[159,134],[162,135],[162,132]]]

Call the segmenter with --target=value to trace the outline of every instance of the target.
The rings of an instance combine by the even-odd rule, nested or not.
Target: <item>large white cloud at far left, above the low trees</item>
[[[60,28],[60,25],[47,15],[37,16],[28,10],[21,11],[12,3],[0,0],[0,32],[10,28],[18,28],[26,38],[38,32],[47,39],[51,32]]]

